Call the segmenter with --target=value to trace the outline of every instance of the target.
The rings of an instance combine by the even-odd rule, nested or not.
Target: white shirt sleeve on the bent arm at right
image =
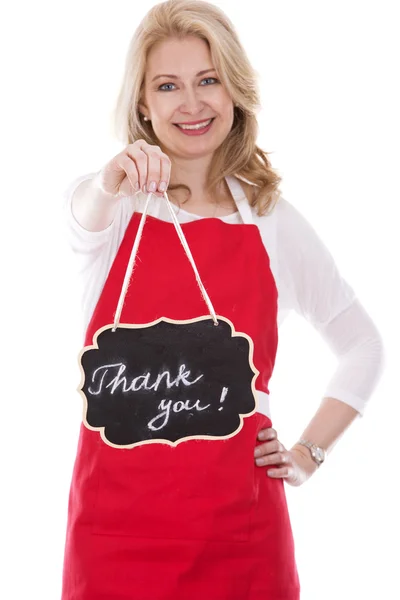
[[[303,215],[282,198],[277,210],[277,261],[286,308],[320,333],[337,358],[324,397],[363,415],[384,368],[380,332]]]

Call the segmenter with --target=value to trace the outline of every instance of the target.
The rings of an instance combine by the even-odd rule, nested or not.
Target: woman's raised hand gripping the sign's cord
[[[162,196],[170,175],[171,161],[159,146],[137,140],[104,165],[94,183],[116,198],[133,196],[139,189]]]

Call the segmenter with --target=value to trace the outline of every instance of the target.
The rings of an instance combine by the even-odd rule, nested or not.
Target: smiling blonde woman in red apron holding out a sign
[[[118,437],[121,423],[112,424],[111,437],[85,404],[63,600],[299,598],[284,482],[304,483],[362,414],[383,351],[328,250],[279,193],[280,178],[256,145],[256,87],[219,9],[184,0],[155,6],[133,37],[118,99],[125,148],[67,192],[71,244],[85,280],[85,348],[113,322],[140,239],[123,322],[196,322],[208,314],[206,289],[221,320],[250,340],[256,377],[255,408],[243,411],[240,425],[186,435],[199,406],[182,403],[184,433],[175,443],[161,439],[159,415],[140,439]],[[149,192],[150,216],[140,231]],[[168,200],[193,251],[203,296]],[[287,450],[272,427],[268,382],[277,321],[293,308],[340,363],[316,415]],[[233,380],[234,369],[224,367]],[[107,386],[127,385],[118,377]],[[186,385],[194,382],[189,370],[175,381],[185,377]],[[178,419],[178,409],[171,415]]]

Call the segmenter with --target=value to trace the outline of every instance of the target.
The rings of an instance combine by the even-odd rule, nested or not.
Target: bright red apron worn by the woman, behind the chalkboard
[[[113,322],[139,222],[135,213],[85,347]],[[277,289],[259,229],[216,218],[182,229],[217,315],[254,342],[255,387],[265,398],[277,350]],[[173,223],[147,217],[138,257],[123,322],[207,313]],[[257,404],[229,439],[127,449],[82,423],[62,600],[298,600],[284,483],[254,462],[258,432],[271,426]]]

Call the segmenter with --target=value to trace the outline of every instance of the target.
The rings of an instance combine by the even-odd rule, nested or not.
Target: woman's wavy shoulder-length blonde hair
[[[226,176],[234,175],[250,184],[245,185],[250,205],[256,207],[259,215],[266,214],[279,200],[281,177],[271,167],[268,152],[256,145],[256,114],[260,108],[257,75],[232,23],[213,4],[199,0],[167,0],[145,15],[126,56],[114,110],[117,138],[126,145],[138,139],[144,139],[148,144],[160,144],[151,122],[144,121],[138,110],[147,56],[155,43],[188,35],[197,36],[208,44],[218,77],[237,105],[232,129],[214,153],[207,177],[208,191],[217,189]],[[170,186],[169,189],[174,188]]]

